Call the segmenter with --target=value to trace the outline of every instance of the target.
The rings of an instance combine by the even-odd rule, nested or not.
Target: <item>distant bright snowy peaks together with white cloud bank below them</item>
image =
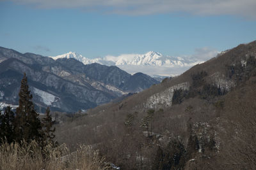
[[[61,58],[76,59],[83,64],[99,63],[106,66],[118,66],[120,69],[130,74],[145,73],[148,75],[158,74],[160,76],[175,76],[191,66],[203,61],[191,59],[189,57],[173,57],[162,55],[159,52],[147,52],[145,54],[122,54],[119,56],[107,55],[96,59],[88,59],[76,52],[68,52],[63,55],[52,57],[57,60]]]

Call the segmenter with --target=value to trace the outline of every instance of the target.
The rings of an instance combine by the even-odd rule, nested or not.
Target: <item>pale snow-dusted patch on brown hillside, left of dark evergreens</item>
[[[150,96],[146,103],[146,108],[158,108],[159,106],[163,107],[170,107],[172,106],[172,97],[174,90],[188,90],[189,89],[189,82],[180,83],[178,85],[174,85],[162,92],[158,92],[152,96]]]

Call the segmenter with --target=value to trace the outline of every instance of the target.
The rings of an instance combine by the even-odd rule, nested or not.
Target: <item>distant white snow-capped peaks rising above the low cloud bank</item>
[[[96,58],[96,59],[88,59],[83,55],[80,55],[76,52],[68,52],[63,55],[58,55],[56,57],[52,57],[52,59],[57,60],[61,58],[73,58],[83,62],[83,64],[92,64],[99,63],[107,66],[124,66],[124,65],[133,65],[133,66],[193,66],[202,61],[192,60],[192,59],[184,59],[182,57],[172,57],[172,56],[164,56],[158,52],[147,52],[145,54],[123,54],[117,57],[107,55],[106,57]]]

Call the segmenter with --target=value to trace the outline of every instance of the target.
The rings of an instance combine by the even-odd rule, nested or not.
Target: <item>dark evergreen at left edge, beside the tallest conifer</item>
[[[4,110],[4,113],[0,115],[1,141],[6,139],[6,142],[12,143],[14,139],[13,124],[14,124],[14,112],[12,111],[10,106],[7,106]]]

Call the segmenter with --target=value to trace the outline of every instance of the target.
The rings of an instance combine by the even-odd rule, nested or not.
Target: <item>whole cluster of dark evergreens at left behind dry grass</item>
[[[50,115],[49,107],[45,111],[45,117],[40,119],[32,102],[32,94],[29,90],[26,73],[20,83],[19,106],[15,111],[7,106],[0,115],[0,144],[1,143],[27,143],[36,141],[41,146],[48,143],[57,144],[54,141],[54,121]]]

